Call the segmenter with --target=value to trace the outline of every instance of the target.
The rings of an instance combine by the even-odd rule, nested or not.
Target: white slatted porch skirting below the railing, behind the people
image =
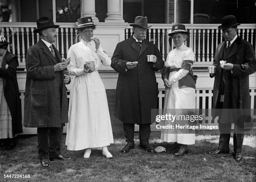
[[[196,109],[202,109],[205,120],[203,120],[202,125],[218,125],[217,120],[214,123],[211,123],[212,120],[211,113],[205,113],[204,109],[211,109],[212,107],[212,87],[214,79],[209,78],[209,74],[207,72],[195,72],[198,76],[197,84],[196,84]],[[100,76],[105,85],[106,89],[115,89],[118,75],[114,72],[100,72]],[[164,85],[161,80],[161,74],[159,72],[156,73],[157,82],[159,83],[159,109],[162,109],[164,102]],[[26,82],[26,74],[18,74],[18,84],[20,89],[20,99],[21,99],[21,107],[22,111],[24,111],[24,96],[25,96],[25,82]],[[250,75],[249,78],[250,85],[250,95],[251,95],[251,109],[255,109],[255,99],[256,99],[256,73]],[[71,85],[67,85],[68,89],[68,97],[69,90]],[[22,118],[23,118],[22,112]],[[256,126],[256,113],[254,113],[253,120],[254,126]],[[64,127],[64,132],[66,132],[67,127]],[[138,131],[138,126],[135,127],[135,130]],[[151,125],[151,130],[155,131],[156,126]],[[23,134],[36,134],[36,128],[25,128],[23,127]]]

